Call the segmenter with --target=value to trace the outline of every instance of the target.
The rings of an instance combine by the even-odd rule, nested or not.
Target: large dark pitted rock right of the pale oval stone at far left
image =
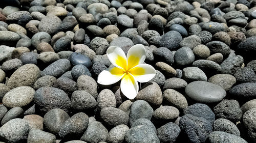
[[[71,101],[68,95],[60,89],[52,87],[39,88],[34,95],[36,107],[46,113],[51,109],[60,108],[69,111]]]

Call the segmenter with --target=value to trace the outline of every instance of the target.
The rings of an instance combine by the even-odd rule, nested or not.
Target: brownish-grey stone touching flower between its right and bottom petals
[[[145,100],[148,103],[158,106],[163,101],[163,96],[159,85],[156,82],[148,82],[143,85],[135,98],[136,100]]]

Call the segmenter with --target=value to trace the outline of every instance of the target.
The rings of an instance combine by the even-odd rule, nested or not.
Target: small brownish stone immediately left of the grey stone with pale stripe
[[[26,115],[23,119],[27,120],[27,122],[29,123],[29,130],[31,130],[32,128],[37,128],[40,130],[44,129],[44,118],[39,115]]]

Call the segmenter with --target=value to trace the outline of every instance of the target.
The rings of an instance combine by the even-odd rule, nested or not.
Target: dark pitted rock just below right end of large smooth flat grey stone
[[[217,118],[224,118],[234,123],[240,121],[243,112],[237,100],[222,100],[214,107],[214,112]]]

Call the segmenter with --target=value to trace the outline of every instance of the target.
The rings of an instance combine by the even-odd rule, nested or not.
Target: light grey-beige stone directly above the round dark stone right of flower
[[[194,49],[197,45],[201,44],[201,39],[200,37],[196,35],[191,35],[188,37],[185,37],[181,42],[180,42],[180,47],[189,47],[190,49]]]

